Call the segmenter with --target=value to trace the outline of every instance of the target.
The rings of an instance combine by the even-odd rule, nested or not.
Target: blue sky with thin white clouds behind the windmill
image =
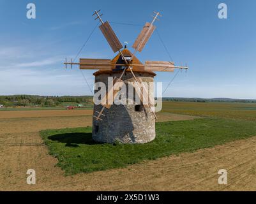
[[[27,4],[36,4],[36,19],[26,18]],[[225,3],[228,19],[218,18]],[[64,69],[65,57],[75,57],[97,24],[93,10],[102,9],[103,20],[144,25],[153,11],[163,17],[156,27],[179,73],[164,96],[256,99],[256,1],[14,1],[0,0],[0,94],[89,95],[78,68]],[[121,43],[133,41],[141,27],[112,24]],[[99,29],[79,57],[112,59]],[[156,32],[140,61],[169,61]],[[93,71],[83,71],[93,89]],[[175,73],[157,73],[163,90]]]

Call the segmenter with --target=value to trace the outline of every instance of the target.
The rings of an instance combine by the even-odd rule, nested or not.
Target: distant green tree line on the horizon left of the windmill
[[[61,103],[93,103],[93,96],[0,96],[0,105],[4,106],[59,106]]]

